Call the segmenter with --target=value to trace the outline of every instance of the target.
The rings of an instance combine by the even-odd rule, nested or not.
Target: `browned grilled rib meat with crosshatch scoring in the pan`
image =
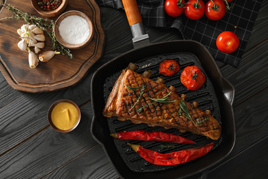
[[[127,86],[127,87],[126,87]],[[131,90],[128,87],[140,87]],[[143,89],[142,89],[143,87]],[[217,140],[221,135],[221,125],[212,116],[184,101],[189,120],[184,116],[179,103],[183,100],[178,94],[168,95],[172,103],[159,103],[150,98],[163,98],[170,92],[166,85],[150,80],[131,70],[123,70],[104,107],[104,116],[116,116],[118,120],[131,120],[132,123],[146,123],[149,126],[177,128],[181,132],[190,131]],[[141,95],[142,94],[142,95]]]

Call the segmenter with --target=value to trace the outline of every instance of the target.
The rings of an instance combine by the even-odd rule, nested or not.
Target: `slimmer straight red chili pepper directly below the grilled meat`
[[[118,140],[156,140],[160,142],[168,143],[184,143],[184,144],[195,144],[193,140],[177,136],[175,134],[169,134],[162,131],[122,131],[115,134],[111,134]]]

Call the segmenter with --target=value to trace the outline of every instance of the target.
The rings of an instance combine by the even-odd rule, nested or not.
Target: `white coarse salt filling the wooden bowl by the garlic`
[[[89,24],[84,18],[71,15],[60,22],[58,31],[65,42],[80,44],[89,37]]]

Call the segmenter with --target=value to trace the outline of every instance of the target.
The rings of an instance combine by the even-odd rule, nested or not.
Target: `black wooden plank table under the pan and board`
[[[90,82],[100,65],[133,48],[132,34],[123,11],[100,10],[104,54],[74,87],[29,94],[12,89],[0,75],[0,178],[120,178],[91,136]],[[146,27],[146,32],[151,43],[181,38],[177,30]],[[268,178],[268,1],[263,1],[239,67],[216,63],[236,89],[236,144],[208,178]],[[47,122],[49,106],[61,98],[74,101],[82,112],[80,125],[68,134]]]

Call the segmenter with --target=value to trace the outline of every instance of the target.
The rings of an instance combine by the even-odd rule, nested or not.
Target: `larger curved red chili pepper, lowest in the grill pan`
[[[202,147],[174,151],[168,154],[160,154],[156,151],[144,149],[140,145],[133,145],[130,143],[128,143],[128,145],[131,146],[134,151],[139,154],[139,156],[148,162],[153,163],[154,165],[178,165],[208,154],[208,152],[214,146],[214,143],[209,143],[208,145],[204,145]]]

